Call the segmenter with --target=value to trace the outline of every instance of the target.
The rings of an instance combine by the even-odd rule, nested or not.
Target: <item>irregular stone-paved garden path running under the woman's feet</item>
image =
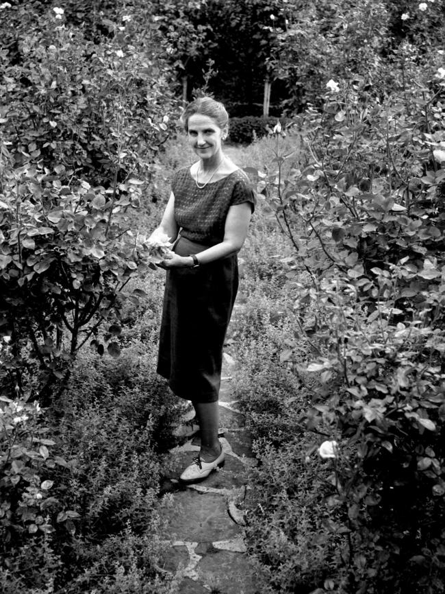
[[[247,471],[256,464],[244,416],[231,399],[233,360],[225,355],[220,390],[220,442],[225,466],[203,482],[181,486],[177,477],[199,451],[199,436],[172,453],[174,467],[166,490],[173,506],[166,510],[168,544],[164,569],[173,573],[175,594],[258,594],[259,583],[244,543]]]

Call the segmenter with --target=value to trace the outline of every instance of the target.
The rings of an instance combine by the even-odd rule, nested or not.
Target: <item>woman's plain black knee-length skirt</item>
[[[209,246],[181,237],[180,256]],[[181,398],[218,400],[223,345],[238,291],[236,255],[167,271],[157,372]]]

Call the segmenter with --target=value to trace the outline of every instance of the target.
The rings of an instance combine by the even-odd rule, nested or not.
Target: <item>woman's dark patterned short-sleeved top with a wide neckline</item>
[[[241,169],[203,188],[196,186],[189,167],[179,169],[172,181],[175,219],[181,235],[214,246],[224,238],[225,219],[230,206],[250,202],[255,209],[255,192]]]

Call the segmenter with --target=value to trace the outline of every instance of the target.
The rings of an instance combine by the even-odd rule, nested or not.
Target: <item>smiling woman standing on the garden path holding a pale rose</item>
[[[241,169],[223,153],[227,111],[211,97],[189,104],[181,121],[192,150],[191,167],[173,176],[172,193],[152,237],[175,241],[165,268],[166,289],[157,372],[192,401],[201,429],[201,450],[181,474],[186,483],[223,466],[218,440],[218,393],[223,344],[238,290],[236,254],[246,238],[255,194]]]

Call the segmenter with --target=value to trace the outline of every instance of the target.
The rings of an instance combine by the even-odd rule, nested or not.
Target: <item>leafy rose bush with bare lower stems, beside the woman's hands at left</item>
[[[31,389],[47,403],[55,385],[64,386],[79,347],[97,338],[99,324],[119,321],[125,285],[147,270],[144,238],[119,218],[134,194],[110,197],[86,181],[70,189],[28,167],[9,171],[5,181],[0,315],[11,356],[0,376],[10,393]],[[119,333],[118,323],[109,326],[115,355],[118,344],[110,339]],[[103,352],[102,343],[94,344]]]

